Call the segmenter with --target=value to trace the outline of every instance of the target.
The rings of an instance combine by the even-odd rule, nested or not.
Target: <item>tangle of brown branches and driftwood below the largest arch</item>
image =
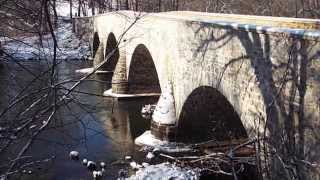
[[[194,148],[202,152],[200,155],[174,157],[160,153],[159,156],[182,167],[198,168],[215,174],[233,176],[242,172],[247,165],[256,165],[256,140],[237,139],[230,141],[207,141],[195,144]]]

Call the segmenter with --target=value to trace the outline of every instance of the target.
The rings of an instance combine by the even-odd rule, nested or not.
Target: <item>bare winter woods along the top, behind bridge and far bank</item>
[[[41,38],[41,35],[49,30],[47,14],[53,25],[57,25],[59,3],[70,3],[71,17],[117,10],[320,17],[320,0],[0,0],[0,37],[14,39],[21,35],[36,34]],[[48,13],[45,13],[46,6]]]

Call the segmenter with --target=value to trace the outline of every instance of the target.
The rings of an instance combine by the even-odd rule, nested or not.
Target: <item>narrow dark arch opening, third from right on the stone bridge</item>
[[[101,70],[114,71],[119,60],[118,42],[115,35],[111,32],[106,43],[104,59],[109,57],[107,62],[101,67]]]

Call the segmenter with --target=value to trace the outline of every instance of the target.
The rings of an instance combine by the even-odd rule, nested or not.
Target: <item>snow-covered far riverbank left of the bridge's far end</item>
[[[58,42],[58,59],[82,59],[90,56],[89,44],[79,40],[72,33],[72,24],[59,20],[59,27],[55,30]],[[42,37],[42,45],[38,36],[25,37],[12,40],[0,37],[0,42],[5,51],[14,59],[52,59],[53,39],[50,34]]]

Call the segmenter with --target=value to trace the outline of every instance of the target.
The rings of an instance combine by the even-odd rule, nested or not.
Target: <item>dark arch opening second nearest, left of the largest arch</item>
[[[143,44],[138,45],[132,55],[129,68],[130,93],[160,93],[158,73],[153,58]]]

